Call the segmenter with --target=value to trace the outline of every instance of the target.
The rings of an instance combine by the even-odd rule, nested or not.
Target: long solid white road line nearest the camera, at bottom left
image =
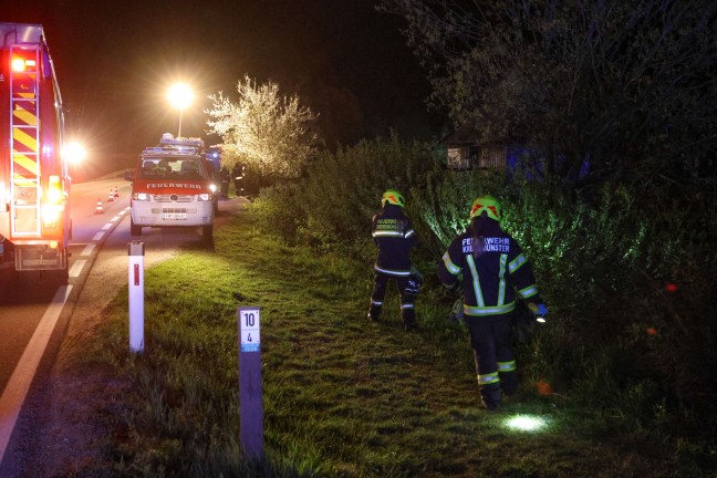
[[[22,353],[14,372],[12,372],[12,376],[2,392],[2,396],[0,396],[0,463],[2,463],[2,457],[8,448],[10,435],[18,422],[22,403],[28,395],[30,384],[38,370],[38,364],[44,354],[44,350],[48,347],[52,331],[58,323],[58,319],[67,301],[67,297],[70,297],[71,290],[72,285],[62,285],[58,289],[50,306],[48,306],[44,315],[40,319],[40,323],[34,334],[32,334],[32,339],[28,342],[28,346]]]

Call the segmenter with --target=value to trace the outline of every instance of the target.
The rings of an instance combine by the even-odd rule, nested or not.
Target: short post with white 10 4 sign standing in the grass
[[[239,308],[239,419],[241,447],[248,458],[263,458],[260,309]]]

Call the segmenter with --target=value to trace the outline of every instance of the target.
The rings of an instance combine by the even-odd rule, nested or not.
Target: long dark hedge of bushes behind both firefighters
[[[268,191],[264,200],[298,209],[298,239],[344,250],[368,268],[370,221],[387,188],[407,197],[420,239],[414,260],[426,274],[419,310],[438,335],[455,331],[445,326],[453,298],[439,291],[435,267],[468,225],[471,201],[490,194],[501,200],[502,225],[526,250],[550,308],[549,325],[519,347],[523,380],[549,380],[595,417],[616,411],[623,429],[652,424],[671,435],[675,420],[689,430],[707,424],[700,434],[717,428],[714,193],[604,185],[581,196],[519,174],[449,172],[427,145],[392,137],[324,153],[300,185]],[[273,209],[266,210],[271,217]]]

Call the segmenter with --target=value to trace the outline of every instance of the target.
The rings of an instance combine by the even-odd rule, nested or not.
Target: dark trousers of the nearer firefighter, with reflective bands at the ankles
[[[497,405],[501,391],[512,395],[518,389],[510,314],[465,315],[464,320],[476,358],[480,395],[486,405]]]

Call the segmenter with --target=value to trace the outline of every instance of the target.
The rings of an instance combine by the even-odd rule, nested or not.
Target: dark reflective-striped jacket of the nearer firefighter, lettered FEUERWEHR
[[[438,277],[448,288],[463,274],[464,314],[509,313],[516,308],[516,295],[542,303],[532,268],[518,242],[498,221],[480,220],[480,235],[474,238],[469,229],[458,236],[438,263]]]

